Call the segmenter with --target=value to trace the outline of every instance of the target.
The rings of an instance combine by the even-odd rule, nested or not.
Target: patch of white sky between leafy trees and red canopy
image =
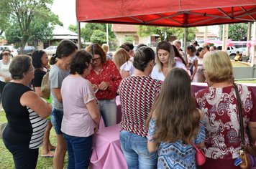
[[[70,24],[76,25],[76,0],[54,0],[51,9],[66,29]]]

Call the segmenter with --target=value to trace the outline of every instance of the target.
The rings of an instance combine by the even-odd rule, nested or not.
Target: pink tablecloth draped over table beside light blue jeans
[[[119,141],[120,124],[105,127],[93,135],[90,169],[126,169]]]

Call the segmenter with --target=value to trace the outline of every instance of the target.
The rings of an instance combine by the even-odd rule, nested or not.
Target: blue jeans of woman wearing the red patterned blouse
[[[99,112],[101,112],[101,116],[103,117],[105,127],[116,125],[116,115],[117,115],[116,98],[112,100],[98,100],[97,106],[98,106]]]

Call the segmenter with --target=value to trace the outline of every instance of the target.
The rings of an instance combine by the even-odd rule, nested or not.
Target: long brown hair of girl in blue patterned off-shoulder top
[[[155,142],[175,143],[182,139],[183,144],[191,143],[199,129],[200,114],[191,95],[191,79],[184,69],[175,67],[166,75],[147,117],[147,128],[154,112],[157,116]]]

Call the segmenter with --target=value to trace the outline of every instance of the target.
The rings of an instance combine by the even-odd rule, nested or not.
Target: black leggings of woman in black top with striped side
[[[39,148],[22,148],[18,145],[8,143],[4,139],[3,141],[5,147],[9,150],[9,152],[12,153],[16,169],[35,169],[35,167],[37,166]]]

